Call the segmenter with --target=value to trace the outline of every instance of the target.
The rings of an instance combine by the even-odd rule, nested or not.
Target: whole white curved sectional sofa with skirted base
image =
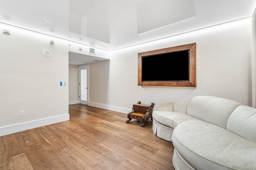
[[[176,170],[256,170],[256,109],[196,96],[154,105],[153,132],[174,145]]]

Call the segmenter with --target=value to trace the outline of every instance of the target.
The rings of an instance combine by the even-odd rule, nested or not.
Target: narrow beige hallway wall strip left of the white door
[[[78,65],[68,65],[68,101],[69,104],[78,103]]]

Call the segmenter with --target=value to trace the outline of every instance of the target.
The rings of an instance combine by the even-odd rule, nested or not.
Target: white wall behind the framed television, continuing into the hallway
[[[97,84],[100,91],[90,88],[92,103],[89,105],[117,111],[115,108],[124,108],[120,111],[127,113],[129,110],[125,109],[131,109],[137,101],[157,104],[211,95],[251,106],[251,22],[249,18],[112,51],[110,63],[102,61],[90,65],[90,81]],[[137,85],[138,53],[194,42],[197,43],[196,88]],[[102,79],[102,75],[108,79]]]

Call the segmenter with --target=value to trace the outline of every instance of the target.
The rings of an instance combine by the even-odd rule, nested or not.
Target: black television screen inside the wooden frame
[[[190,50],[142,57],[142,81],[189,81]]]

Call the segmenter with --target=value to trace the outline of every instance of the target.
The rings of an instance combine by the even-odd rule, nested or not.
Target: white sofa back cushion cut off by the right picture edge
[[[227,130],[256,143],[256,109],[237,107],[228,119]]]

